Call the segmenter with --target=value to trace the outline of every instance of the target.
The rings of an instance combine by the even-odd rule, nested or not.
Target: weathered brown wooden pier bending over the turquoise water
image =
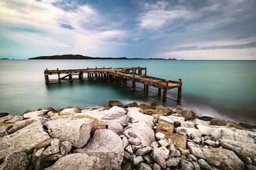
[[[50,81],[49,75],[58,74],[57,81]],[[63,76],[61,77],[61,74]],[[84,74],[86,77],[84,77]],[[78,76],[74,78],[73,76]],[[87,69],[56,69],[44,71],[45,83],[58,82],[62,81],[73,81],[73,80],[108,80],[114,81],[116,84],[118,81],[122,83],[122,87],[125,87],[127,80],[131,80],[131,90],[135,91],[136,83],[141,83],[144,85],[144,92],[148,96],[148,87],[156,87],[158,89],[157,94],[161,96],[163,90],[163,103],[166,103],[167,100],[167,90],[178,89],[177,101],[181,101],[182,94],[182,81],[165,80],[163,78],[157,78],[153,76],[147,76],[147,67],[122,67],[122,68],[112,68],[112,67],[103,67],[103,68],[89,68]],[[68,78],[68,79],[67,79]]]

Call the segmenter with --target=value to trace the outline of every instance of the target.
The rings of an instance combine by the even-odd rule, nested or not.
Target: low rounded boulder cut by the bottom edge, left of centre
[[[51,167],[45,170],[83,170],[99,169],[99,158],[84,153],[73,153],[58,159]]]

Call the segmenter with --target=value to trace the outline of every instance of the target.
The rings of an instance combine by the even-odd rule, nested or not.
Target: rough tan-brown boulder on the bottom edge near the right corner
[[[202,151],[197,152],[200,155],[196,155],[196,152],[192,152],[193,155],[196,157],[202,157],[202,155],[204,155],[202,159],[205,159],[207,164],[215,166],[218,169],[244,169],[243,162],[231,150],[223,148],[198,148],[197,150]]]

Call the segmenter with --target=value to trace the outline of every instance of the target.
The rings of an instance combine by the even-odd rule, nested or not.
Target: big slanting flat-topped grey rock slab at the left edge
[[[1,138],[0,160],[13,152],[32,152],[36,146],[50,140],[51,138],[44,131],[41,122],[34,122],[13,134]]]

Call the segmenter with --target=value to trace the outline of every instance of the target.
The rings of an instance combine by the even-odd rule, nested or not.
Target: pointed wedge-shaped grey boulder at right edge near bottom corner
[[[240,141],[220,139],[220,145],[223,148],[232,150],[240,158],[241,157],[250,157],[250,159],[256,158],[256,144],[255,143],[244,143],[244,142],[240,142]]]

